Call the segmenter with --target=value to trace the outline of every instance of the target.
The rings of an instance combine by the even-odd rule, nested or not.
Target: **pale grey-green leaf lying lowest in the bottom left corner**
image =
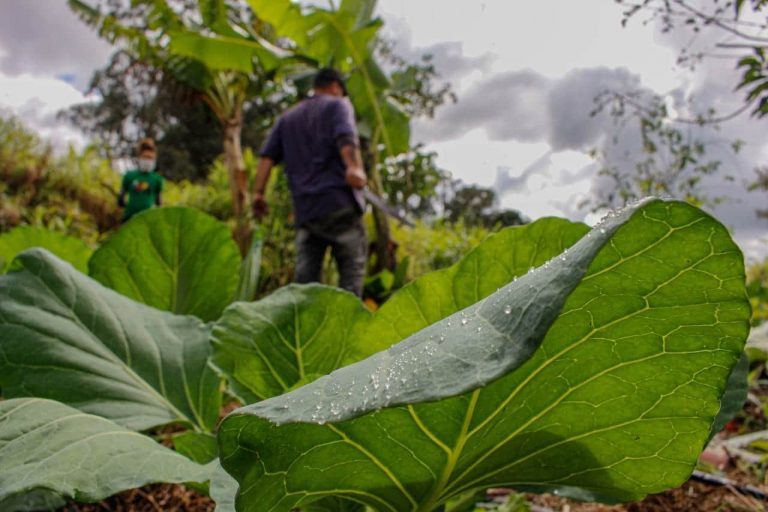
[[[98,501],[148,483],[208,477],[203,466],[147,436],[36,398],[0,402],[0,461],[4,511],[28,510],[25,502],[53,493]]]

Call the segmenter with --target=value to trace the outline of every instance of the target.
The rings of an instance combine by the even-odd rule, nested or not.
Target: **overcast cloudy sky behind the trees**
[[[620,165],[632,161],[622,158],[626,152],[637,154],[631,130],[619,131],[607,115],[590,117],[600,92],[642,89],[673,102],[693,97],[721,113],[735,110],[741,99],[733,92],[738,76],[732,62],[705,62],[693,73],[681,69],[675,62],[687,34],[663,35],[640,20],[622,28],[621,11],[610,0],[379,0],[398,53],[432,54],[459,97],[435,119],[417,121],[415,141],[436,151],[438,164],[455,177],[494,187],[504,207],[533,219],[594,222],[580,205],[606,183],[597,178],[589,150],[603,149]],[[110,53],[65,0],[0,0],[0,109],[58,147],[82,144],[55,114],[84,100],[91,72]],[[766,123],[742,116],[717,133],[698,134],[734,177],[707,182],[710,195],[733,197],[714,213],[755,256],[768,253],[768,221],[754,214],[765,208],[768,194],[747,193],[744,185],[755,167],[768,164]],[[617,134],[618,145],[612,142]],[[728,150],[734,139],[746,143],[738,155]]]

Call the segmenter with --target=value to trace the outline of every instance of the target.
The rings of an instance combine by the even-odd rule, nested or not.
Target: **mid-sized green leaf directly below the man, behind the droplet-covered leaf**
[[[242,402],[264,400],[343,366],[351,328],[369,316],[350,293],[289,285],[227,308],[211,332],[212,362]]]

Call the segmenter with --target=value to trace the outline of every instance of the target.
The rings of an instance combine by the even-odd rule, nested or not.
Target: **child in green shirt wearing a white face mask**
[[[117,197],[117,204],[125,208],[123,223],[139,212],[162,204],[163,177],[155,170],[156,162],[155,142],[152,139],[142,140],[139,143],[139,168],[125,173]]]

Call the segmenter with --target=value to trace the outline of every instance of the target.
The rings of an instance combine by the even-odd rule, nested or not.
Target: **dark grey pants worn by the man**
[[[368,237],[362,216],[352,209],[334,212],[298,228],[295,281],[320,281],[328,247],[339,270],[339,288],[362,297]]]

